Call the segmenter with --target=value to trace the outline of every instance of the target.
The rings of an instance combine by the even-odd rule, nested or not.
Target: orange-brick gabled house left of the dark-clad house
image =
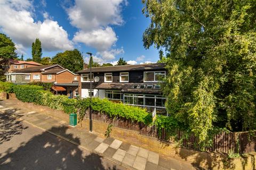
[[[27,67],[5,74],[9,82],[22,84],[28,82],[53,83],[55,94],[74,98],[78,95],[78,75],[58,64]]]

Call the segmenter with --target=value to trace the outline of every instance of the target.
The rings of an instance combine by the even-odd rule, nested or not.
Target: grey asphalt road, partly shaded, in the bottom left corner
[[[126,169],[0,113],[0,169]]]

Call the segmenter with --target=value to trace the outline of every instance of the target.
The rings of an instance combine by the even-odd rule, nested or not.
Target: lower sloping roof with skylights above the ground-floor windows
[[[133,86],[138,85],[153,85],[155,86],[157,83],[101,83],[99,84],[96,89],[115,89],[115,90],[121,90],[122,92],[134,92],[134,93],[141,93],[141,92],[147,92],[147,94],[159,94],[161,92],[160,89],[137,89],[133,88]]]

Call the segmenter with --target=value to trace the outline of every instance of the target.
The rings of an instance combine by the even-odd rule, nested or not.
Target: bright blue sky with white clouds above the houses
[[[31,58],[31,44],[42,43],[43,56],[77,48],[85,62],[156,62],[158,50],[143,47],[150,19],[139,0],[0,0],[0,32],[15,43],[19,56]]]

